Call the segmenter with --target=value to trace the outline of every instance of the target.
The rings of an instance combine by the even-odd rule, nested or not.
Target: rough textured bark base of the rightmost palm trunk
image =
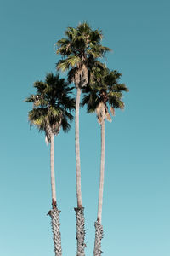
[[[103,238],[103,226],[96,221],[95,224],[94,256],[101,256],[101,240]]]

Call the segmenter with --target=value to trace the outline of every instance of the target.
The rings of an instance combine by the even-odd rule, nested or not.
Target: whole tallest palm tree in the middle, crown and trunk
[[[105,52],[111,50],[102,46],[102,32],[92,30],[88,23],[83,22],[77,28],[68,27],[65,38],[57,43],[57,54],[63,59],[57,63],[57,68],[69,70],[68,80],[73,82],[77,88],[76,118],[75,118],[75,144],[76,144],[76,169],[77,169],[77,256],[83,256],[85,230],[84,230],[84,208],[82,207],[81,190],[81,166],[79,145],[79,106],[81,90],[88,84],[89,67],[98,63],[98,58],[103,57]]]

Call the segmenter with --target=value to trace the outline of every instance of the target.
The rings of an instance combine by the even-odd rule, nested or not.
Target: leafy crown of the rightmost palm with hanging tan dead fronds
[[[96,112],[100,125],[104,119],[111,121],[108,105],[111,107],[112,115],[115,115],[115,108],[124,108],[122,91],[128,91],[125,84],[119,84],[121,73],[116,70],[110,71],[101,64],[102,66],[103,68],[94,68],[88,87],[82,90],[82,106],[87,105],[88,113]]]

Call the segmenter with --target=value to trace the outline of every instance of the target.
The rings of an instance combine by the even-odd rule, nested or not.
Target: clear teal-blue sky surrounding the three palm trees
[[[126,108],[106,124],[104,256],[170,255],[170,2],[0,1],[0,254],[54,255],[49,147],[30,131],[23,103],[32,84],[55,71],[54,43],[87,20],[113,49],[107,65],[129,87]],[[99,188],[100,132],[81,109],[82,204],[93,255]],[[74,123],[55,138],[63,255],[76,255]]]

